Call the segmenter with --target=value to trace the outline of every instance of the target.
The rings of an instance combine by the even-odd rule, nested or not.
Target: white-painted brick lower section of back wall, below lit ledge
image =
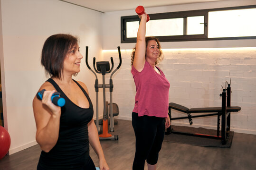
[[[122,48],[121,48],[122,49]],[[120,119],[131,119],[135,85],[131,74],[131,50],[122,50],[122,66],[113,76],[113,102]],[[256,48],[172,49],[163,50],[159,67],[169,80],[169,102],[188,108],[221,106],[222,87],[231,79],[231,105],[240,106],[231,114],[231,130],[256,134]],[[119,62],[117,51],[104,51],[104,59]],[[106,76],[108,82],[109,76]],[[107,94],[109,95],[109,94]],[[172,117],[186,116],[172,110]],[[172,124],[190,126],[188,119]],[[217,117],[194,118],[193,127],[217,128]]]

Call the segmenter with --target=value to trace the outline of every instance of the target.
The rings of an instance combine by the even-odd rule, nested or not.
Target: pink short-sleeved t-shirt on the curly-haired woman
[[[131,72],[136,86],[133,112],[138,113],[138,116],[148,115],[160,118],[168,116],[170,83],[161,69],[158,69],[161,75],[155,72],[147,61],[141,72],[132,67]]]

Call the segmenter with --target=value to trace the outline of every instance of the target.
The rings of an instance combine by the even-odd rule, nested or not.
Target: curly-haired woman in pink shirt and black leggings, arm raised
[[[132,53],[132,74],[136,86],[132,124],[136,137],[133,170],[156,170],[158,153],[165,127],[171,125],[168,116],[170,83],[156,64],[162,59],[157,38],[145,37],[147,14],[141,18],[136,47]]]

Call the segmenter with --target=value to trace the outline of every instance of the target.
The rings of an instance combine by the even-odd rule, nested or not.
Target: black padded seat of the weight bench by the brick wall
[[[213,113],[213,112],[220,112],[221,107],[205,107],[205,108],[187,108],[177,103],[170,102],[169,108],[182,111],[184,113]],[[237,112],[241,110],[239,106],[230,106],[227,107],[227,112]]]

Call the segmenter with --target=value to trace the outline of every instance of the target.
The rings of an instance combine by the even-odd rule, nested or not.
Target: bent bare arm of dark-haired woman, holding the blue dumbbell
[[[44,152],[49,152],[57,143],[61,109],[51,102],[55,89],[44,84],[39,91],[44,88],[47,91],[44,92],[42,101],[35,96],[33,110],[37,125],[36,140]]]

